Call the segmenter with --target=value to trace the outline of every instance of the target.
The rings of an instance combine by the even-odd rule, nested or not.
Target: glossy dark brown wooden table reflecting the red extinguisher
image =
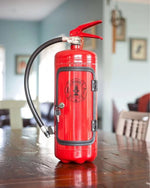
[[[36,131],[0,129],[0,188],[150,186],[150,143],[98,131],[93,163],[63,164]]]

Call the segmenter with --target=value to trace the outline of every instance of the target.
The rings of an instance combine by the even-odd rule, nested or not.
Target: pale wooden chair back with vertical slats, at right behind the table
[[[119,114],[116,134],[150,141],[150,113],[122,111]]]

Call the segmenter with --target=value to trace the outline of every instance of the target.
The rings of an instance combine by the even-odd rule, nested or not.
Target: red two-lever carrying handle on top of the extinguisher
[[[83,32],[85,29],[88,29],[94,25],[101,24],[101,23],[102,23],[102,20],[97,20],[97,21],[93,21],[90,23],[79,25],[77,28],[70,31],[70,36],[89,37],[89,38],[97,38],[97,39],[103,40],[103,37],[101,36]]]

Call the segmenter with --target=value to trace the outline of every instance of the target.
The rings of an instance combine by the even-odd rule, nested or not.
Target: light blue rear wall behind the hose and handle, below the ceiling
[[[33,50],[50,38],[69,31],[85,22],[102,19],[103,0],[68,0],[47,18],[39,22],[0,20],[0,44],[6,49],[6,92],[5,99],[24,98],[23,75],[15,73],[15,55],[31,54]],[[97,33],[102,35],[102,27]],[[102,84],[102,42],[97,40],[98,77]],[[35,84],[36,85],[36,84]],[[101,88],[101,86],[99,86]],[[102,92],[99,92],[99,114],[101,114]]]

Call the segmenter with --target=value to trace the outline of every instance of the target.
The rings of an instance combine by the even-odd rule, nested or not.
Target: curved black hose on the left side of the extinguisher
[[[25,95],[27,98],[27,102],[28,105],[31,109],[31,112],[35,118],[35,120],[37,121],[38,125],[40,128],[42,128],[44,126],[44,123],[42,122],[40,116],[38,115],[35,106],[32,102],[32,98],[31,98],[31,94],[30,94],[30,90],[29,90],[29,75],[30,75],[30,70],[32,67],[32,64],[35,60],[35,58],[37,57],[37,55],[45,48],[47,48],[48,46],[58,43],[58,42],[63,42],[62,37],[58,37],[58,38],[54,38],[52,40],[49,40],[47,42],[45,42],[44,44],[42,44],[41,46],[39,46],[34,52],[33,54],[30,56],[29,61],[27,63],[27,67],[25,70],[25,76],[24,76],[24,89],[25,89]],[[46,127],[44,126],[44,129],[41,129],[43,131],[43,133],[46,135],[46,137],[50,136],[49,131],[46,129]]]

